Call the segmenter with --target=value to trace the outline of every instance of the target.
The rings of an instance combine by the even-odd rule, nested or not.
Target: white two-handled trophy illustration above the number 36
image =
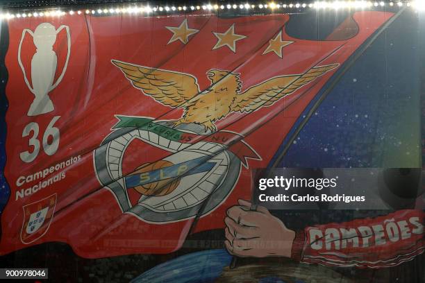
[[[65,29],[67,31],[67,59],[65,61],[65,66],[63,71],[56,80],[56,83],[53,83],[56,67],[58,67],[58,57],[56,56],[55,51],[53,51],[53,44],[56,42],[56,36],[60,31]],[[21,49],[22,42],[24,41],[25,34],[29,33],[33,37],[33,42],[37,51],[33,55],[31,60],[31,83],[29,83],[28,78],[26,77],[26,72],[24,65],[22,65],[21,60]],[[55,108],[49,97],[49,92],[51,92],[55,87],[57,87],[60,81],[65,75],[67,70],[67,65],[69,61],[69,54],[71,53],[71,35],[69,33],[69,26],[60,26],[57,30],[56,28],[49,23],[42,23],[35,28],[35,31],[29,29],[24,29],[22,31],[21,41],[19,42],[18,47],[18,62],[19,67],[22,69],[24,74],[24,80],[28,89],[34,94],[35,98],[33,103],[28,110],[28,116],[36,116],[44,113],[53,111]]]

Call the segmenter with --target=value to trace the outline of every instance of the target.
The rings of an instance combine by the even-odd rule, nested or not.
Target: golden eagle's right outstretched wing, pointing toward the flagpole
[[[231,105],[232,111],[252,112],[263,106],[269,106],[283,96],[295,92],[303,85],[322,76],[327,71],[335,69],[339,64],[313,67],[303,75],[278,76],[265,80],[259,85],[249,87],[242,94],[238,94]]]

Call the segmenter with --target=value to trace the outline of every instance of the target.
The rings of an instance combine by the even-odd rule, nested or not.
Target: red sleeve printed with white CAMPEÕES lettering
[[[326,266],[390,267],[424,252],[424,243],[424,212],[406,209],[308,227],[297,232],[292,258]]]

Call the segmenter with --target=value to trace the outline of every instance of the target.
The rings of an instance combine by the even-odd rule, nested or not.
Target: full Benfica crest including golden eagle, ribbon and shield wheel
[[[94,151],[101,185],[119,206],[144,221],[167,223],[208,214],[231,192],[247,159],[260,156],[235,132],[218,130],[215,121],[232,112],[253,112],[273,105],[338,64],[315,66],[304,74],[277,76],[241,92],[240,74],[211,69],[210,87],[201,92],[190,74],[113,60],[134,87],[158,103],[183,108],[176,121],[117,116],[113,132]],[[135,140],[167,151],[159,160],[140,160],[123,173],[125,152]],[[149,149],[144,149],[149,151]],[[137,198],[134,193],[137,192]]]

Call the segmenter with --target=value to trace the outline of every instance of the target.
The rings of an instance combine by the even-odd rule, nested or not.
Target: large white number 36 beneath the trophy
[[[46,130],[44,131],[42,144],[43,144],[44,152],[47,155],[53,155],[56,153],[56,151],[58,151],[60,132],[59,132],[59,129],[56,127],[53,127],[53,125],[54,123],[56,123],[56,121],[58,121],[59,118],[60,116],[53,117],[53,119],[51,119],[49,123],[49,126],[47,126]],[[22,137],[27,137],[28,135],[31,134],[31,132],[33,132],[33,135],[31,135],[28,141],[28,146],[34,147],[33,152],[30,153],[29,151],[24,151],[23,153],[19,154],[21,157],[21,160],[26,163],[29,163],[35,160],[35,157],[37,157],[40,151],[40,141],[38,140],[38,132],[39,132],[38,123],[35,123],[35,122],[28,123],[28,125],[26,125],[24,130],[22,131]],[[50,136],[53,137],[53,141],[51,141],[51,143],[49,144]]]

